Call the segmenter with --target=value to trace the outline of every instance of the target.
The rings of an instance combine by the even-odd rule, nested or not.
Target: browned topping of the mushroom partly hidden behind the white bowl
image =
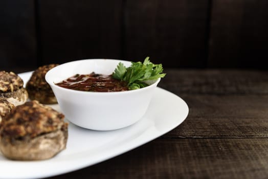
[[[35,70],[30,78],[30,80],[27,82],[26,84],[26,89],[42,89],[42,90],[46,90],[46,89],[50,89],[50,85],[47,83],[47,81],[44,79],[44,77],[46,76],[47,72],[51,69],[53,69],[55,66],[57,66],[58,64],[48,64],[48,65],[44,65],[44,66],[40,66],[37,70]]]

